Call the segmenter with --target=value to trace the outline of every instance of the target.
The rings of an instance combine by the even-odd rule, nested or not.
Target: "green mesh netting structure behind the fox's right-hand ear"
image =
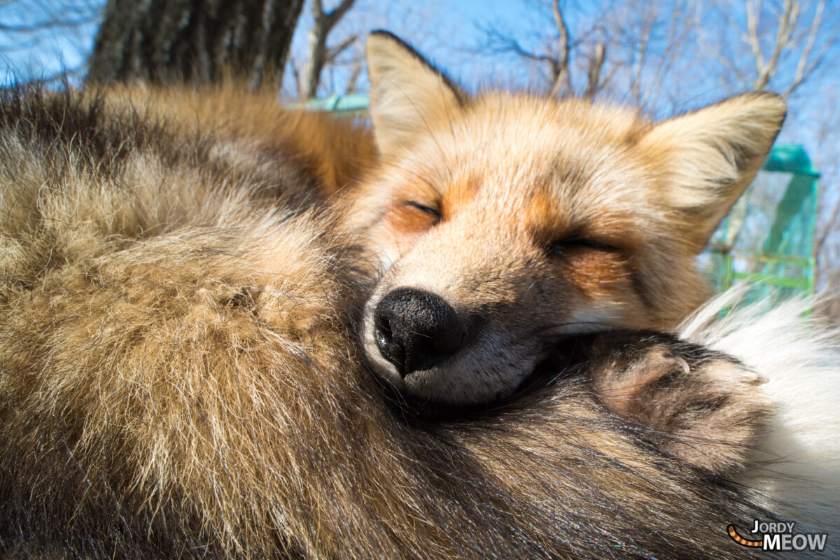
[[[746,280],[748,301],[813,292],[819,176],[802,146],[774,146],[701,256],[718,290]]]

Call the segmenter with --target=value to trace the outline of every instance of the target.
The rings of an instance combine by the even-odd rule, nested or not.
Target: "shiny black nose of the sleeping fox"
[[[466,329],[443,298],[423,290],[391,290],[376,306],[374,337],[402,377],[443,362],[464,346]]]

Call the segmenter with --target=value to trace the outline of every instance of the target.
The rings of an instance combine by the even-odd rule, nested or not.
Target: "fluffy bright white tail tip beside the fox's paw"
[[[777,412],[753,455],[744,484],[779,500],[795,531],[840,541],[840,329],[806,311],[805,298],[768,308],[738,306],[743,288],[710,301],[680,327],[680,336],[741,359],[760,377],[757,387]],[[721,311],[735,306],[722,319]],[[827,551],[832,557],[832,552]],[[837,556],[833,556],[837,557]]]

